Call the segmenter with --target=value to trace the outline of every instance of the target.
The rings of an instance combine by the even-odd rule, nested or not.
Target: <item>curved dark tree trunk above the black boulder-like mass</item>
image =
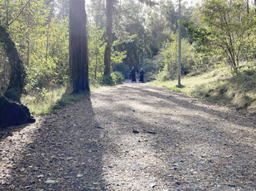
[[[4,44],[4,49],[7,52],[8,60],[11,66],[11,77],[8,89],[4,93],[4,96],[10,100],[20,102],[25,80],[23,61],[18,54],[18,50],[16,49],[14,42],[1,24],[0,42]]]

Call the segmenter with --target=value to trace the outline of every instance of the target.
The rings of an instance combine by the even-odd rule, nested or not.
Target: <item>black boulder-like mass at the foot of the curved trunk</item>
[[[34,123],[28,107],[0,96],[0,128]]]

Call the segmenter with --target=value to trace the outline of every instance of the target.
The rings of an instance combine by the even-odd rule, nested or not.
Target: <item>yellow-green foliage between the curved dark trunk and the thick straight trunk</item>
[[[26,66],[25,92],[63,86],[68,81],[68,17],[55,17],[53,2],[27,2],[9,1],[8,7],[0,7],[8,9],[1,20],[9,21],[8,30]]]

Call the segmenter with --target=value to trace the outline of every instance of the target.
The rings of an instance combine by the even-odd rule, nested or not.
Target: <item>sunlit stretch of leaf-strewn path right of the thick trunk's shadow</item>
[[[143,84],[102,88],[93,103],[104,116],[98,121],[109,130],[108,144],[117,148],[106,146],[108,190],[256,186],[254,118]]]

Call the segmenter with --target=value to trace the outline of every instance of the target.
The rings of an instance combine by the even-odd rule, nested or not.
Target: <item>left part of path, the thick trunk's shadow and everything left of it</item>
[[[0,144],[0,190],[104,190],[104,133],[89,97],[14,132]]]

